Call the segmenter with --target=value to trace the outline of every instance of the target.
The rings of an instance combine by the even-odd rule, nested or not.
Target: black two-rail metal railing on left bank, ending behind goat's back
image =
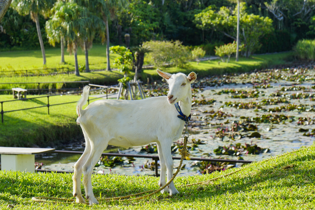
[[[89,82],[89,81],[85,81],[85,82]],[[102,89],[106,89],[106,98],[108,98],[108,94],[107,94],[107,89],[111,88],[111,86],[106,86],[106,88],[101,87],[101,88],[97,88],[97,89],[90,89],[90,91],[95,91],[95,90],[102,90]],[[113,89],[117,89],[115,86],[112,87]],[[77,92],[72,92],[71,94],[76,94],[76,93],[82,93],[83,91],[77,91]],[[114,95],[114,94],[112,94]],[[42,108],[42,107],[47,107],[48,108],[48,114],[49,114],[49,107],[51,106],[56,106],[56,105],[62,105],[62,104],[68,104],[68,103],[77,103],[77,101],[74,102],[66,102],[66,103],[58,103],[58,104],[49,104],[49,97],[52,96],[60,96],[60,94],[54,94],[54,95],[49,95],[49,96],[39,96],[39,97],[33,97],[33,98],[22,98],[22,99],[17,99],[17,100],[10,100],[10,101],[2,101],[1,103],[1,121],[3,123],[3,114],[4,113],[8,113],[8,112],[15,112],[15,111],[21,111],[21,110],[28,110],[28,109],[34,109],[34,108]],[[36,98],[45,98],[47,97],[47,104],[44,106],[39,106],[39,107],[31,107],[31,108],[23,108],[23,109],[15,109],[15,110],[9,110],[9,111],[3,111],[3,103],[4,102],[16,102],[16,101],[26,101],[26,100],[32,100],[32,99],[36,99]],[[95,100],[98,98],[102,98],[101,97],[96,97],[96,98],[92,98],[90,99],[88,97],[88,104],[91,100]]]

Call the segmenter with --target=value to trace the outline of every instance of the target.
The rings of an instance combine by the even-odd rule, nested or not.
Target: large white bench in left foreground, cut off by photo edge
[[[1,170],[35,172],[35,155],[55,149],[0,147]]]

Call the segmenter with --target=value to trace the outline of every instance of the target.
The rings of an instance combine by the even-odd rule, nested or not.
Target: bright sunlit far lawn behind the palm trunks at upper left
[[[68,67],[74,70],[74,55],[69,55],[65,50],[66,64],[60,64],[60,48],[45,49],[47,68]],[[110,55],[110,61],[114,61],[117,54]],[[79,65],[85,65],[85,55],[82,50],[77,51]],[[0,71],[7,70],[31,70],[43,68],[43,56],[41,50],[21,50],[0,52]],[[93,45],[89,50],[90,69],[106,69],[106,45]]]

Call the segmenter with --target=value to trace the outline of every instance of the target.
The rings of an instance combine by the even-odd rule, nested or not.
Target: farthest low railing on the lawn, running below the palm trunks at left
[[[32,73],[32,72],[40,72],[46,71],[46,73]],[[25,73],[24,73],[25,72]],[[23,74],[24,73],[24,74]],[[61,67],[61,68],[46,68],[46,69],[32,69],[32,70],[13,70],[13,71],[0,71],[0,76],[39,76],[39,75],[50,75],[50,74],[68,74],[69,76],[69,68]]]

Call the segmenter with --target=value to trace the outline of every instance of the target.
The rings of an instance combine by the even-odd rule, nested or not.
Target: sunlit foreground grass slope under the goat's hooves
[[[313,209],[315,206],[315,147],[297,150],[208,185],[178,188],[180,194],[160,193],[141,201],[84,204],[50,204],[31,201],[33,196],[72,198],[71,174],[30,174],[0,171],[0,209]],[[175,178],[175,186],[192,184],[232,172]],[[116,197],[158,189],[158,178],[100,175],[92,177],[95,197]],[[83,191],[83,187],[82,187]],[[84,191],[83,191],[84,192]]]

